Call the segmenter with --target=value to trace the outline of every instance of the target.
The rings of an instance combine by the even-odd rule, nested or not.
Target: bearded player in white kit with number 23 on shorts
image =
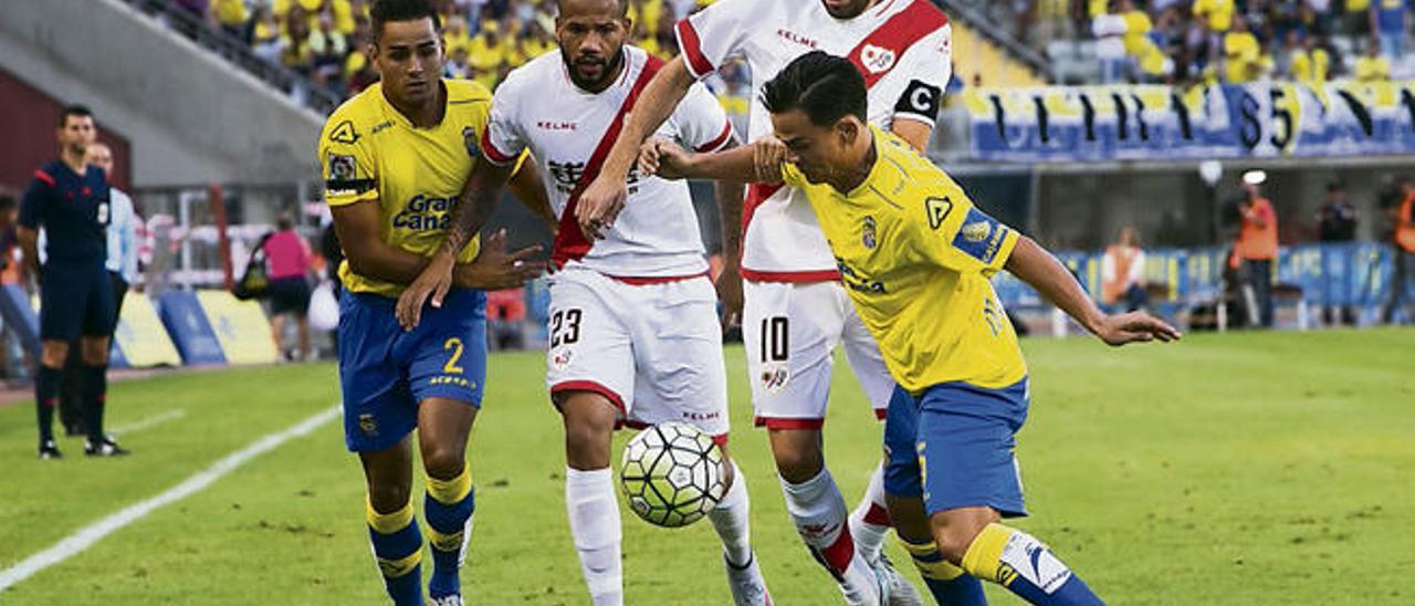
[[[631,174],[633,208],[617,227],[597,241],[580,231],[574,218],[580,190],[597,174],[662,61],[624,45],[631,31],[627,0],[559,4],[562,52],[507,76],[481,149],[487,160],[507,167],[529,150],[560,218],[552,227],[558,270],[550,278],[546,385],[565,421],[565,497],[586,585],[594,605],[621,605],[613,432],[620,425],[686,422],[726,452],[727,375],[717,299],[685,183]],[[702,152],[736,143],[727,115],[702,85],[688,91],[657,135]],[[475,178],[473,187],[485,190]],[[741,184],[717,188],[741,198]],[[420,307],[423,293],[405,299]],[[736,463],[730,467],[727,496],[709,520],[723,542],[734,602],[770,605],[750,545],[746,479]]]

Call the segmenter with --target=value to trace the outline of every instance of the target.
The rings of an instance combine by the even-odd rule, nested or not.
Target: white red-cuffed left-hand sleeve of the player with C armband
[[[678,21],[678,48],[693,78],[717,71],[736,54],[760,23],[758,0],[717,0]]]

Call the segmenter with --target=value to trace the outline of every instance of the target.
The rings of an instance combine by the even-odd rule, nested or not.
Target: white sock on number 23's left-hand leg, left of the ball
[[[565,469],[565,507],[570,514],[570,535],[580,555],[580,571],[594,606],[624,605],[624,572],[620,564],[618,501],[614,477],[606,469]]]

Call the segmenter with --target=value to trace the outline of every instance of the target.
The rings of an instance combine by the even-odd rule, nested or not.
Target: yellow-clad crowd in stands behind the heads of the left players
[[[371,0],[177,0],[211,27],[243,40],[272,65],[350,96],[378,81],[364,50],[372,41]],[[669,58],[674,24],[710,0],[628,0],[631,42]],[[488,89],[507,72],[556,48],[555,0],[439,0],[446,76]]]

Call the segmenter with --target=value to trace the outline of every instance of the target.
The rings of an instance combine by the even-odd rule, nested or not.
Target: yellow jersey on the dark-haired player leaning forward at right
[[[870,125],[877,160],[848,194],[801,188],[835,253],[841,279],[890,374],[904,389],[964,381],[1000,389],[1026,377],[1017,336],[989,278],[1020,235],[974,207],[942,170]]]

